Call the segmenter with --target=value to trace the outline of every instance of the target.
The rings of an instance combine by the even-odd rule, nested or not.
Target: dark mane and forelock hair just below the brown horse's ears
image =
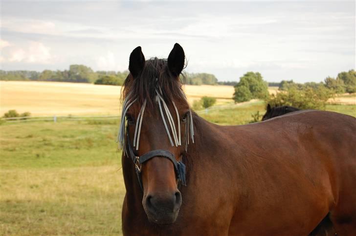
[[[181,79],[180,79],[181,78]],[[162,91],[164,100],[175,101],[180,104],[188,104],[187,98],[182,90],[182,82],[185,81],[184,73],[174,76],[169,71],[167,59],[151,58],[145,61],[145,65],[138,76],[133,78],[131,74],[125,79],[121,93],[121,100],[128,96],[136,98],[139,105],[147,100],[148,108],[153,108],[156,98],[156,90]],[[151,109],[147,109],[148,112]]]

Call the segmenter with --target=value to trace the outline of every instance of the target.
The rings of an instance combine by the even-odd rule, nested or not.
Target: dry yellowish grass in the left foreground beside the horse
[[[1,235],[121,235],[118,169],[1,170]]]

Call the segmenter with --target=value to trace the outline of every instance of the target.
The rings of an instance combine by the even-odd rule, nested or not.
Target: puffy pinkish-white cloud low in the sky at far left
[[[11,62],[48,64],[51,62],[50,48],[41,42],[31,42],[28,49],[16,48],[10,51]]]

